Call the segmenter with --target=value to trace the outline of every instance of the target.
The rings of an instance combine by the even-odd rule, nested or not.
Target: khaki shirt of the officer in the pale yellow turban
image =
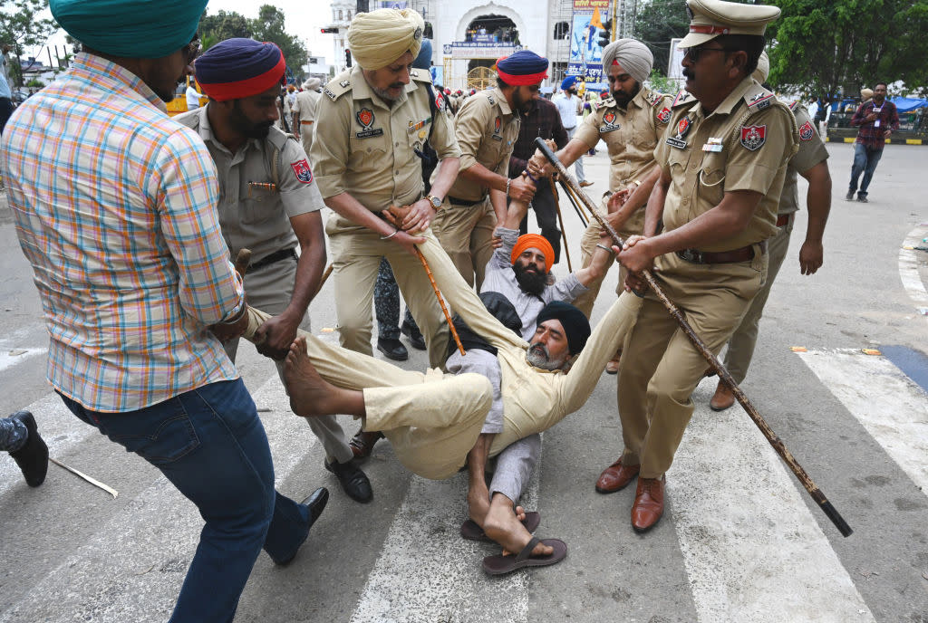
[[[430,73],[409,74],[393,107],[371,90],[357,65],[326,85],[312,147],[322,197],[350,193],[374,212],[405,206],[422,197],[422,160],[415,150],[426,139],[438,159],[458,158],[447,112],[439,109],[432,119],[425,88]]]

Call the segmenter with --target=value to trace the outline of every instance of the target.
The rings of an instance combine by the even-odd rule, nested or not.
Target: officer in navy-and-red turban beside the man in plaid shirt
[[[226,245],[233,257],[251,249],[245,291],[252,305],[274,314],[258,330],[264,336],[258,350],[277,360],[298,328],[309,331],[307,309],[326,264],[318,211],[324,204],[313,172],[303,148],[274,127],[284,67],[274,44],[227,39],[213,45],[196,68],[209,103],[176,118],[200,134],[213,156]],[[238,339],[225,348],[234,362]],[[334,416],[307,422],[326,450],[327,469],[350,497],[369,502],[370,482],[354,465],[342,426]]]

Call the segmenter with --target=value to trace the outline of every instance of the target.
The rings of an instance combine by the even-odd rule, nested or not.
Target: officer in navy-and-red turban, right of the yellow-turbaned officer
[[[493,255],[496,223],[506,219],[506,197],[528,202],[535,184],[509,179],[509,156],[519,137],[520,111],[531,108],[548,76],[548,60],[520,50],[496,63],[496,88],[470,95],[455,117],[461,149],[458,180],[432,228],[468,284],[483,284]]]

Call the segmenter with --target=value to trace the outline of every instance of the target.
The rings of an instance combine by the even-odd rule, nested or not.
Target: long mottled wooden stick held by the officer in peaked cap
[[[579,188],[573,187],[574,181],[570,179],[570,176],[567,174],[567,170],[564,168],[564,165],[561,164],[561,160],[559,160],[558,157],[554,155],[554,152],[548,148],[548,145],[545,144],[545,141],[541,139],[535,139],[535,145],[541,149],[542,153],[545,154],[545,158],[547,158],[548,161],[554,165],[554,168],[559,173],[561,173],[561,182],[572,187],[572,190],[574,190],[576,196],[580,197],[584,201],[586,207],[593,215],[593,218],[599,221],[599,224],[602,225],[602,228],[609,232],[609,235],[612,236],[612,240],[615,242],[615,244],[619,248],[624,247],[625,244],[622,238],[620,238],[619,235],[615,232],[615,230],[612,228],[612,225],[606,221],[606,219],[602,218],[602,215],[600,215],[599,212],[594,209],[593,202],[589,199],[589,197],[586,197],[586,194],[584,194],[584,192]],[[664,294],[664,290],[661,289],[661,286],[657,283],[657,280],[654,279],[651,271],[642,271],[641,276],[648,283],[648,286],[651,287],[651,290],[654,292],[657,298],[661,299],[661,302],[664,303],[664,307],[667,308],[667,312],[670,312],[670,315],[674,317],[674,319],[677,321],[677,324],[680,325],[680,328],[683,329],[683,332],[686,334],[686,336],[690,338],[690,342],[692,342],[693,346],[696,347],[696,350],[699,350],[700,354],[702,354],[702,357],[704,357],[705,360],[709,362],[709,366],[715,370],[715,374],[717,374],[718,377],[722,379],[722,382],[731,389],[731,393],[734,394],[735,399],[741,403],[741,406],[744,407],[744,411],[748,413],[748,416],[754,421],[754,424],[760,428],[760,432],[763,433],[765,438],[767,438],[767,441],[771,446],[773,446],[773,449],[777,451],[777,453],[780,455],[780,458],[783,459],[783,461],[790,467],[790,469],[793,471],[793,474],[795,474],[796,478],[799,479],[799,482],[802,483],[803,487],[806,489],[806,491],[808,491],[808,494],[812,497],[813,500],[815,500],[815,502],[818,503],[818,506],[821,508],[822,512],[827,515],[829,519],[831,519],[831,523],[834,524],[835,528],[838,528],[844,537],[850,536],[853,530],[851,530],[851,527],[847,525],[846,521],[844,521],[844,517],[842,517],[834,508],[834,506],[831,505],[831,502],[828,501],[828,499],[825,497],[825,494],[818,489],[818,486],[816,486],[815,482],[812,481],[812,478],[809,477],[809,475],[806,473],[806,470],[803,469],[802,465],[800,465],[793,458],[793,454],[791,454],[790,451],[786,449],[786,445],[783,444],[779,437],[777,437],[777,435],[773,432],[773,429],[767,425],[767,422],[764,420],[761,414],[757,411],[756,408],[754,408],[754,404],[748,400],[748,397],[744,394],[743,391],[741,391],[741,388],[738,387],[735,379],[732,378],[732,376],[728,373],[728,370],[726,370],[725,366],[722,365],[722,362],[719,362],[713,352],[706,348],[705,344],[702,342],[702,339],[700,339],[700,337],[696,335],[696,332],[693,331],[693,328],[690,326],[690,323],[687,322],[687,319],[684,317],[683,313],[680,312],[677,309],[677,306],[674,305],[673,301],[668,299],[667,295]]]

